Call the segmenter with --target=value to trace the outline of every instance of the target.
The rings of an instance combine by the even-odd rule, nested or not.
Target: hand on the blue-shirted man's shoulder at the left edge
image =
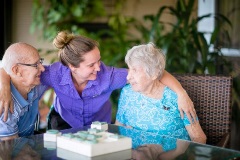
[[[0,91],[0,116],[4,112],[4,121],[7,121],[8,118],[8,110],[10,110],[11,113],[13,113],[13,102],[10,90],[7,92],[7,90],[1,90]]]

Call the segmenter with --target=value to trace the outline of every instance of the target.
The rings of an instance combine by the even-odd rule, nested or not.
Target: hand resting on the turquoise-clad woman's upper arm
[[[184,117],[184,113],[186,113],[191,124],[196,121],[197,114],[193,102],[188,96],[187,92],[184,92],[178,96],[178,109],[180,111],[182,119]]]

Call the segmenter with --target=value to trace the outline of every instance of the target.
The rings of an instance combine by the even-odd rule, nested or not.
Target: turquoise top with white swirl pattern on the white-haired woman
[[[162,99],[146,97],[126,85],[120,95],[117,121],[133,128],[190,140],[187,116],[181,119],[177,94],[165,87]]]

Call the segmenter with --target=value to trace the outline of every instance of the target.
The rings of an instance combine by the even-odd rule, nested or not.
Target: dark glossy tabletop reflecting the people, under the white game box
[[[196,159],[196,160],[237,160],[240,159],[240,151],[203,145],[191,141],[185,141],[158,135],[156,133],[139,131],[108,125],[109,132],[118,133],[132,138],[133,148],[111,154],[85,157],[61,148],[56,148],[53,142],[43,141],[43,134],[29,137],[21,137],[10,141],[0,142],[0,160],[8,159],[84,159],[84,160],[154,160],[154,159]],[[75,133],[79,130],[87,130],[89,127],[80,129],[68,129],[62,133]]]

